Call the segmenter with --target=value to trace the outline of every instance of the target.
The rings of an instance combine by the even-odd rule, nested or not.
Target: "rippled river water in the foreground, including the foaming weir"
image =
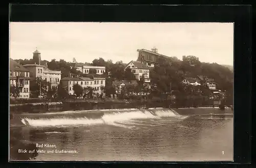
[[[214,108],[203,112],[126,109],[20,114],[16,116],[19,127],[10,128],[10,160],[28,159],[28,153],[18,150],[38,143],[53,148],[30,148],[45,151],[33,161],[232,161],[231,110],[221,115],[208,115],[220,113]],[[75,153],[58,152],[62,150]]]

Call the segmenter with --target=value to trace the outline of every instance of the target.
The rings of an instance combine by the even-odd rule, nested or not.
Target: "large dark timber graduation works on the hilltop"
[[[161,59],[167,61],[169,65],[172,65],[172,58],[159,54],[156,47],[151,49],[151,51],[146,49],[138,49],[138,59],[137,61],[142,62],[143,64],[147,65],[148,67],[153,68],[156,65],[159,65],[159,61]]]

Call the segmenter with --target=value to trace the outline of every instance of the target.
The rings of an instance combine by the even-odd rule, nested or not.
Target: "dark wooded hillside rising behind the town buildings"
[[[184,78],[196,78],[197,76],[206,76],[214,79],[217,83],[217,89],[226,90],[231,94],[233,92],[233,73],[225,66],[217,63],[204,63],[200,62],[198,57],[195,56],[183,56],[182,60],[176,57],[171,57],[172,64],[169,65],[164,59],[158,60],[159,66],[150,70],[150,78],[152,84],[157,86],[159,92],[169,92],[170,89],[177,91],[184,91],[184,86],[181,81]],[[19,59],[15,60],[20,64],[31,64],[33,60]],[[47,60],[41,61],[41,65],[48,64],[48,68],[51,70],[61,70],[61,78],[68,77],[70,73],[81,74],[80,71],[76,71],[74,68],[70,68],[72,63],[76,62],[75,58],[73,62],[66,62],[65,60],[56,61],[55,59],[50,62]],[[87,63],[87,62],[86,62]],[[106,85],[112,85],[112,81],[119,80],[135,80],[134,75],[128,71],[124,71],[125,64],[122,61],[113,63],[112,60],[105,61],[102,58],[94,59],[92,63],[87,63],[93,66],[105,66],[106,74],[110,72],[110,78],[106,79]]]

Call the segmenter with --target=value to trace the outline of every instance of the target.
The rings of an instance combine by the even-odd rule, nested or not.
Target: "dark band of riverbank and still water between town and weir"
[[[32,103],[33,102],[33,103]],[[148,109],[148,108],[197,108],[197,107],[231,107],[221,101],[199,99],[155,99],[155,100],[118,100],[118,99],[68,99],[65,101],[49,101],[47,99],[10,100],[10,113],[38,113],[67,110],[97,110],[97,109]]]

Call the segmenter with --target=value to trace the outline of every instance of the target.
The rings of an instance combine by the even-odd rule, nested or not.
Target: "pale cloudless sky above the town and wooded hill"
[[[233,65],[233,23],[10,22],[10,58],[129,63],[137,49],[158,49],[170,57],[196,56],[201,62]]]

